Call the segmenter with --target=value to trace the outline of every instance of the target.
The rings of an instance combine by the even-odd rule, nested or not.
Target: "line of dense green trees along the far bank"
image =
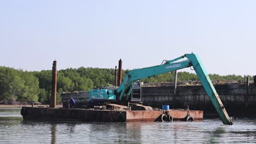
[[[123,70],[123,76],[129,70]],[[49,104],[51,99],[52,70],[24,71],[8,67],[0,67],[0,101],[39,101]],[[243,81],[248,75],[210,74],[211,80]],[[252,76],[249,76],[253,80]],[[144,83],[171,82],[174,72],[142,79]],[[196,74],[179,72],[177,81],[198,81]],[[68,92],[88,91],[94,87],[114,86],[115,69],[103,68],[68,68],[57,72],[57,102],[60,94]]]

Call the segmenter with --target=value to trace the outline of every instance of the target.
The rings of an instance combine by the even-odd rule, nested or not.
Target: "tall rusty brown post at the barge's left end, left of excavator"
[[[57,93],[57,61],[54,61],[52,80],[51,80],[51,105],[50,105],[50,107],[56,106],[56,93]]]

